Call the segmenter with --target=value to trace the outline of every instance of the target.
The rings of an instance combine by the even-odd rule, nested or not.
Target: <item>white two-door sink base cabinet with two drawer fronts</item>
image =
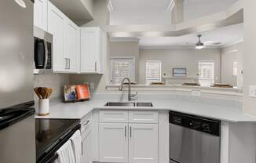
[[[100,110],[100,115],[100,162],[158,163],[158,111]]]

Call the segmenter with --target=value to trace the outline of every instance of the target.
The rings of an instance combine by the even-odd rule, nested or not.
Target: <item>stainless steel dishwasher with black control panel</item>
[[[220,121],[169,113],[170,163],[220,163]]]

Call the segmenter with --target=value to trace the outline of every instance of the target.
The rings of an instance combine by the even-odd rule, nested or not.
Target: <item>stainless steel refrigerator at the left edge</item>
[[[0,1],[0,162],[35,163],[33,1]]]

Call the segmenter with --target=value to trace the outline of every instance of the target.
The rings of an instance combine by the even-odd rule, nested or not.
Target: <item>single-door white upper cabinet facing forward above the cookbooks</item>
[[[100,27],[81,28],[81,73],[102,73],[104,34]]]

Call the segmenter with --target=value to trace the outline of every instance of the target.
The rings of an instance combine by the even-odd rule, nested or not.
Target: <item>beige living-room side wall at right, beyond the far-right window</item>
[[[237,76],[233,76],[233,62],[237,62]],[[243,88],[243,42],[221,49],[221,82]]]

